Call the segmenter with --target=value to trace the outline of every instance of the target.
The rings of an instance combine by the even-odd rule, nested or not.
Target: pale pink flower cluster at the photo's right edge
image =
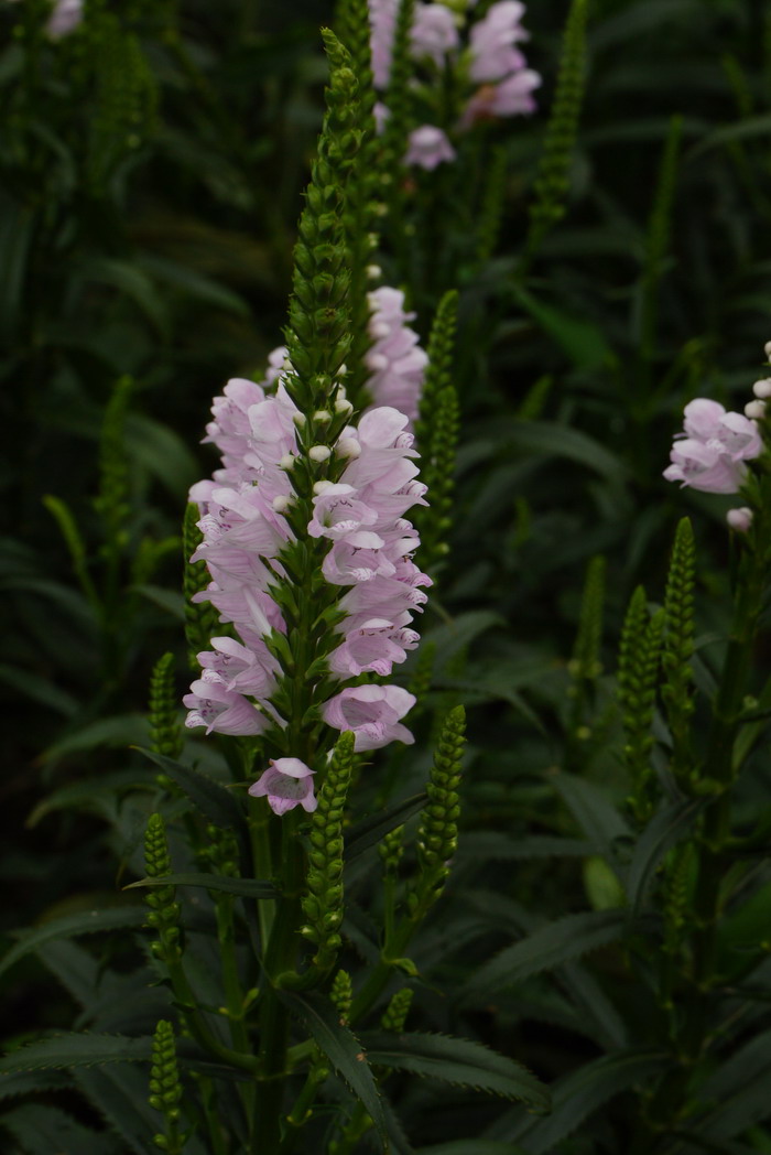
[[[683,429],[672,446],[666,479],[704,493],[738,493],[747,476],[744,462],[763,449],[756,423],[697,397],[686,405]]]

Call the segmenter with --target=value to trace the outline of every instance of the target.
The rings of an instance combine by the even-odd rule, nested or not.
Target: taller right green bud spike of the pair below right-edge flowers
[[[689,773],[690,717],[694,713],[691,657],[694,654],[694,587],[696,550],[694,530],[683,517],[675,532],[672,561],[664,598],[664,683],[661,698],[673,744],[672,772],[678,778]]]

